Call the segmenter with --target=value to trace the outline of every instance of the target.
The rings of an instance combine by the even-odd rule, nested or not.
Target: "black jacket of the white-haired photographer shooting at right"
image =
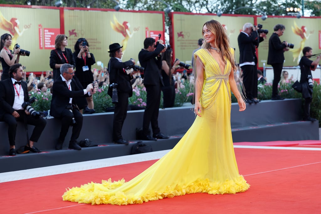
[[[244,62],[255,62],[255,64],[257,64],[255,48],[256,46],[258,47],[258,43],[263,40],[262,37],[257,36],[256,31],[253,31],[249,37],[245,33],[240,32],[238,37],[240,50],[239,64]]]

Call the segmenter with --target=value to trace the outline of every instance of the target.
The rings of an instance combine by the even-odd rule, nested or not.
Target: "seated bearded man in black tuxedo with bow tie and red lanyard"
[[[24,102],[29,102],[27,82],[22,81],[24,71],[21,64],[13,64],[9,70],[11,78],[0,81],[0,120],[8,124],[8,138],[10,143],[9,155],[15,156],[15,137],[17,132],[17,121],[25,124],[34,125],[35,128],[30,136],[29,143],[24,147],[21,153],[41,152],[34,146],[34,142],[44,130],[47,122],[42,117],[34,117],[22,106]]]

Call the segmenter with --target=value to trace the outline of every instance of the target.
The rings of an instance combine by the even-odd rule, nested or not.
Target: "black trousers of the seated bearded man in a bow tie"
[[[32,134],[28,141],[34,141],[38,142],[39,137],[44,130],[47,121],[43,119],[42,117],[39,117],[38,119],[34,118],[31,115],[27,115],[24,110],[17,110],[20,117],[15,118],[11,114],[4,114],[2,120],[8,124],[8,138],[10,146],[15,145],[15,139],[16,139],[16,133],[17,133],[17,121],[26,122],[29,125],[34,125],[35,128],[32,131]],[[22,134],[22,133],[20,133]]]

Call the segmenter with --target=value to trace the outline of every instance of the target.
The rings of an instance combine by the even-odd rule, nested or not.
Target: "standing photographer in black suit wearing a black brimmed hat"
[[[130,80],[133,78],[133,73],[127,73],[125,68],[133,66],[135,60],[131,59],[126,62],[122,62],[123,55],[122,47],[118,43],[109,45],[108,71],[110,78],[110,86],[108,88],[108,95],[113,99],[115,104],[114,120],[113,120],[113,141],[117,144],[128,144],[123,139],[121,134],[124,121],[127,116],[128,98],[133,95],[132,85]],[[113,97],[113,90],[117,90],[118,100]],[[115,94],[115,92],[114,92]]]

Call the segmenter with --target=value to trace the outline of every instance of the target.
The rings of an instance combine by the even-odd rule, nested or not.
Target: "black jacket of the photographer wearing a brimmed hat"
[[[119,62],[117,58],[111,57],[108,62],[109,83],[118,83],[117,91],[128,93],[129,97],[133,95],[132,85],[130,83],[131,76],[123,69],[134,65],[131,60]],[[108,88],[108,95],[112,95],[112,88]]]

